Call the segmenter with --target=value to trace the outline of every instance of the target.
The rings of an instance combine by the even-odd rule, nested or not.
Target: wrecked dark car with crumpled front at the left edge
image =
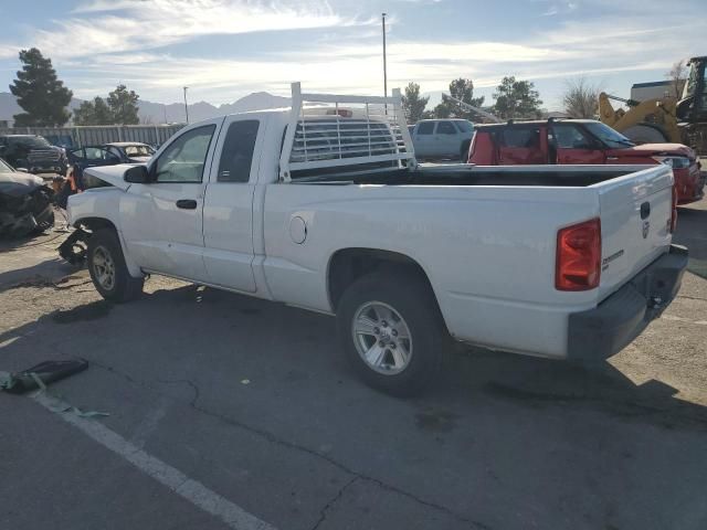
[[[0,159],[0,236],[21,237],[51,229],[53,194],[40,177],[17,171]]]

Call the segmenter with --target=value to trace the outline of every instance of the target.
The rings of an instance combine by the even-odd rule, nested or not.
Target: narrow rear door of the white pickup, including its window
[[[244,116],[226,118],[217,142],[203,206],[204,264],[209,282],[256,290],[253,274],[253,195],[264,124]]]

